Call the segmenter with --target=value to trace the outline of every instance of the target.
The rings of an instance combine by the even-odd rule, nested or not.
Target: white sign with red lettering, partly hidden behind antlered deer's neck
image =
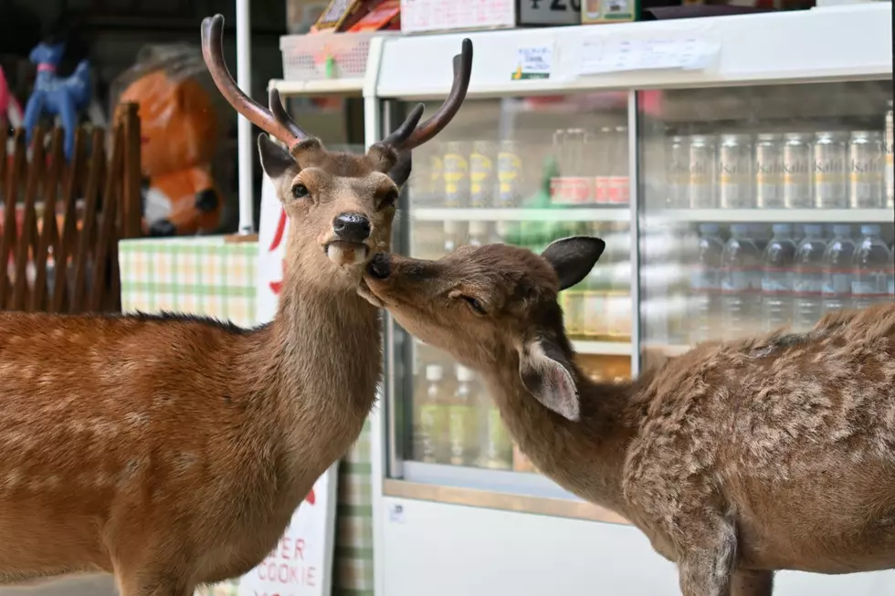
[[[286,272],[289,217],[273,183],[261,183],[258,223],[258,322],[274,318]],[[239,579],[239,596],[329,596],[335,534],[338,462],[317,479],[292,515],[277,547],[258,567]]]

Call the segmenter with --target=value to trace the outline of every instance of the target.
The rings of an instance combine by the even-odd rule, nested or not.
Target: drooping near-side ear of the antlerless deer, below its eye
[[[519,374],[525,389],[545,407],[567,420],[580,419],[581,401],[572,366],[553,341],[534,340],[523,346]]]

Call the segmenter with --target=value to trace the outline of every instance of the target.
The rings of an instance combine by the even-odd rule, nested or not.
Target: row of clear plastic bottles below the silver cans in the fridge
[[[775,224],[765,246],[752,225],[700,225],[692,267],[690,299],[695,319],[690,342],[718,336],[736,338],[756,328],[813,327],[829,310],[867,308],[895,299],[892,249],[879,225],[794,226]]]

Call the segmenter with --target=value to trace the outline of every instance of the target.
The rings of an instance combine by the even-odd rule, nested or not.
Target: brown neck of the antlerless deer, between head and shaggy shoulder
[[[621,479],[627,447],[637,432],[634,385],[592,382],[576,367],[574,373],[581,396],[579,422],[539,403],[522,384],[516,363],[485,378],[511,434],[543,474],[578,497],[627,515]]]

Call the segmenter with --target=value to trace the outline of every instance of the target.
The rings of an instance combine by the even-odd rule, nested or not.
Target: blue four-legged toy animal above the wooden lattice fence
[[[90,64],[87,60],[81,60],[70,76],[60,78],[56,75],[56,68],[64,51],[65,45],[61,43],[41,43],[31,50],[30,59],[37,64],[37,79],[25,107],[24,124],[26,140],[30,144],[31,133],[41,115],[58,114],[65,131],[65,155],[71,159],[78,112],[87,107],[90,99]]]

